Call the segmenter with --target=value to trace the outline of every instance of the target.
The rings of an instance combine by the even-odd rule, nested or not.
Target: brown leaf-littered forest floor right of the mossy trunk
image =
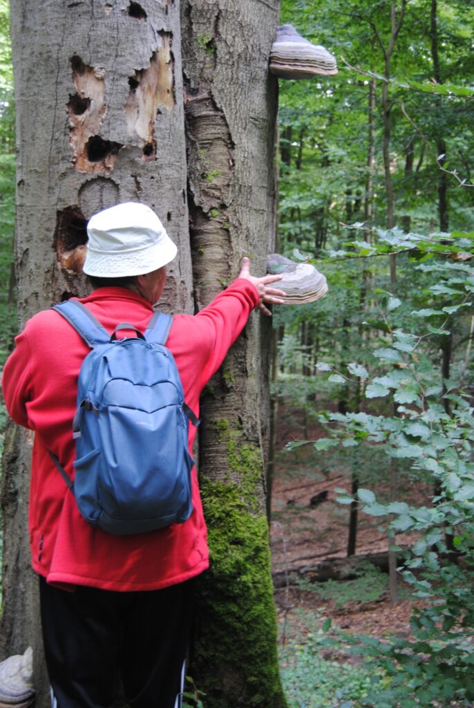
[[[312,445],[285,452],[288,440],[315,440],[323,432],[317,427],[311,429],[310,424],[305,426],[305,435],[301,435],[299,422],[291,411],[284,411],[280,421],[272,490],[272,570],[279,578],[299,571],[296,583],[291,573],[291,581],[275,589],[280,641],[284,644],[288,635],[301,636],[305,625],[312,624],[316,617],[330,617],[333,627],[351,634],[371,634],[380,639],[393,634],[408,636],[412,610],[420,603],[410,596],[403,582],[398,583],[399,602],[393,605],[388,575],[378,569],[369,570],[368,576],[364,573],[347,581],[311,583],[304,579],[305,569],[321,561],[347,556],[349,507],[335,501],[335,489],[349,490],[350,479],[344,461],[316,452]],[[374,464],[386,462],[374,460]],[[386,496],[387,483],[377,479],[374,469],[361,476],[361,486],[369,486],[377,495]],[[364,477],[368,478],[365,483]],[[310,500],[320,492],[327,492],[327,497],[312,508]],[[409,484],[408,489],[400,487],[398,501],[407,498],[407,493],[410,501],[414,501],[414,496],[419,503],[429,498],[429,489],[417,484],[414,491],[413,484]],[[403,534],[396,538],[399,545],[410,541],[412,539]],[[387,548],[388,539],[381,520],[359,513],[356,555],[385,552]],[[310,629],[306,627],[306,631]]]

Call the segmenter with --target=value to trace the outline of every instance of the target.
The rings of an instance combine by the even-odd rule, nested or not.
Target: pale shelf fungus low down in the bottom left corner
[[[0,708],[33,705],[33,649],[9,656],[0,663]]]

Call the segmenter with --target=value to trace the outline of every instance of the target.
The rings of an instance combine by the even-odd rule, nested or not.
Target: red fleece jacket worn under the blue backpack
[[[145,299],[119,287],[100,288],[81,302],[110,333],[123,321],[143,332],[153,314]],[[166,346],[178,366],[185,401],[197,416],[204,385],[258,302],[255,287],[238,279],[197,315],[174,316]],[[52,450],[68,474],[74,474],[72,419],[79,369],[87,353],[87,345],[67,321],[54,310],[45,310],[27,322],[4,367],[8,413],[13,421],[35,431],[29,511],[33,569],[49,583],[105,590],[154,590],[183,582],[209,565],[195,468],[189,520],[117,537],[81,517],[47,453]],[[188,437],[191,452],[194,426],[190,425]]]

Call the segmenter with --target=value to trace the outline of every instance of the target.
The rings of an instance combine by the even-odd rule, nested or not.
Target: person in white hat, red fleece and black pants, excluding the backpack
[[[110,333],[126,321],[144,332],[177,252],[156,214],[127,202],[88,222],[83,271],[93,292],[81,298]],[[238,278],[194,316],[176,314],[166,346],[187,406],[199,415],[204,385],[224,360],[250,312],[283,302],[278,275],[255,278],[243,258]],[[73,475],[72,420],[88,346],[54,310],[39,312],[16,338],[2,378],[13,421],[35,431],[30,486],[32,564],[52,705],[109,707],[117,678],[131,707],[180,705],[195,578],[209,565],[206,525],[192,469],[192,514],[185,523],[127,536],[88,524],[54,467]],[[189,426],[189,450],[195,427]]]

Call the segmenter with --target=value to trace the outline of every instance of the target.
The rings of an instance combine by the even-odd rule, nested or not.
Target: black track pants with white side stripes
[[[193,590],[191,580],[136,593],[82,586],[69,593],[40,578],[53,705],[111,708],[120,675],[130,707],[179,706]]]

